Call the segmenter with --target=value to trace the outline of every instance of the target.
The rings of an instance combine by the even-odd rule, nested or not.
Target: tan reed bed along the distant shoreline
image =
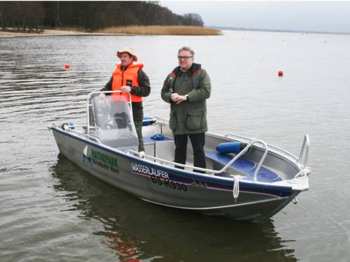
[[[190,26],[126,26],[107,27],[94,31],[99,34],[135,34],[135,35],[162,35],[162,36],[218,36],[221,31],[207,27]]]

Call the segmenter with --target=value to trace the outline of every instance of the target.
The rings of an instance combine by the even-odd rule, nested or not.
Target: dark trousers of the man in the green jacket
[[[194,166],[197,166],[199,168],[206,168],[205,154],[204,154],[204,144],[205,144],[204,133],[189,133],[184,135],[174,135],[175,162],[183,163],[183,164],[186,163],[188,136],[190,137],[192,147],[193,147],[193,158],[195,161]]]

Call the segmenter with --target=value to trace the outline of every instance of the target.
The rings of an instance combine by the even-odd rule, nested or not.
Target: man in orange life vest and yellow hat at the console
[[[134,49],[127,47],[117,52],[120,63],[117,64],[111,80],[101,91],[117,91],[124,96],[123,100],[129,101],[132,94],[132,115],[139,138],[139,152],[144,152],[144,140],[142,138],[142,120],[144,119],[144,108],[142,106],[142,97],[148,96],[151,92],[150,80],[142,70],[144,64],[137,62],[137,56]]]

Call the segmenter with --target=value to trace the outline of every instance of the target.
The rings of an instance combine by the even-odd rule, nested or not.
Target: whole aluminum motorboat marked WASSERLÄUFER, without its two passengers
[[[115,93],[88,95],[85,124],[67,121],[48,129],[67,159],[120,190],[170,208],[259,221],[309,189],[307,135],[296,157],[260,139],[207,132],[207,168],[193,166],[190,143],[183,165],[174,163],[173,135],[164,119],[144,119],[145,152],[138,152],[131,103]]]

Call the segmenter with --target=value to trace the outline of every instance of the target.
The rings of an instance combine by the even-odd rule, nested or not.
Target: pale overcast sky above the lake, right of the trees
[[[350,1],[160,1],[205,26],[350,33]]]

